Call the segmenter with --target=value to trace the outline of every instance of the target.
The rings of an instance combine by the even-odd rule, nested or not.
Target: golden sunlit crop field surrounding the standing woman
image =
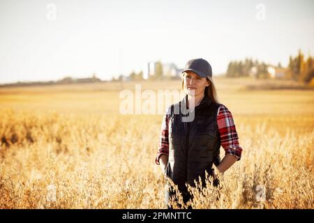
[[[193,189],[193,208],[314,208],[314,91],[214,81],[244,151],[221,187]],[[119,93],[135,84],[181,87],[177,80],[1,88],[0,208],[165,208],[155,164],[163,114],[119,112]]]

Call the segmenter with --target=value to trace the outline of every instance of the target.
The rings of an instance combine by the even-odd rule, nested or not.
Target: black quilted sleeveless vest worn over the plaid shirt
[[[205,94],[200,105],[192,111],[194,120],[185,122],[182,118],[192,114],[181,112],[181,108],[186,107],[186,101],[187,95],[169,108],[167,176],[178,185],[180,192],[187,192],[186,183],[195,186],[194,180],[198,181],[199,176],[204,186],[205,171],[211,174],[213,163],[218,165],[220,162],[220,134],[217,126],[220,104]]]

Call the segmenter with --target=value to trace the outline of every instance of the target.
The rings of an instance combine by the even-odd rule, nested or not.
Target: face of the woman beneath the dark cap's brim
[[[186,71],[184,74],[184,89],[190,96],[202,95],[205,88],[209,86],[206,77],[200,77],[193,71]]]

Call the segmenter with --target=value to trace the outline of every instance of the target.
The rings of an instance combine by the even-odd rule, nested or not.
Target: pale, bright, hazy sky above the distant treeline
[[[0,0],[0,83],[111,79],[200,57],[214,76],[246,57],[287,66],[298,49],[313,56],[313,15],[313,0]]]

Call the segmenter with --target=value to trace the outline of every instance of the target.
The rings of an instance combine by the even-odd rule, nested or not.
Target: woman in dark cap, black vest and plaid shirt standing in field
[[[218,103],[210,64],[192,59],[181,74],[186,96],[165,112],[156,164],[178,186],[186,203],[191,199],[186,183],[195,186],[194,180],[200,176],[205,185],[205,171],[216,179],[212,165],[223,174],[240,160],[242,148],[232,114]],[[225,149],[221,162],[220,146]],[[166,191],[168,208],[172,195]]]

